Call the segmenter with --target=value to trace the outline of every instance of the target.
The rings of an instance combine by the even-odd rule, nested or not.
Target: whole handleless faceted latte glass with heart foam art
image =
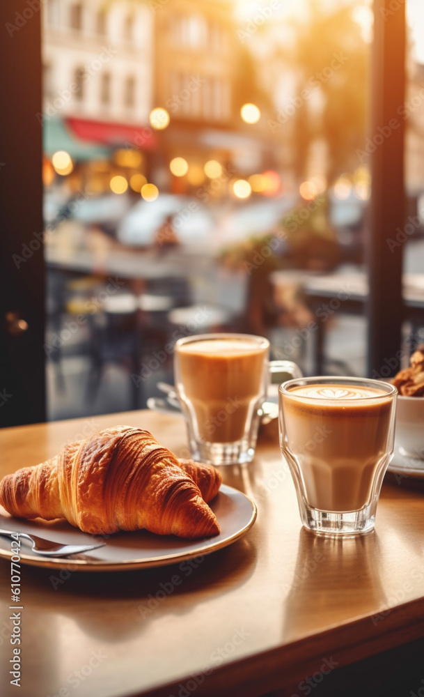
[[[361,378],[301,378],[279,388],[280,447],[305,528],[367,533],[393,454],[397,390]]]

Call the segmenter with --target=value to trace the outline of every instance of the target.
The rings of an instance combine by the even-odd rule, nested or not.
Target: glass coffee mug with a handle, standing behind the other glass
[[[265,337],[246,334],[179,339],[174,365],[191,456],[213,465],[253,459],[270,373],[301,376],[291,361],[269,362]]]

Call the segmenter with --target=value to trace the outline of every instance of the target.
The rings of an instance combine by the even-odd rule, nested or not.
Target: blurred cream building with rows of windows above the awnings
[[[148,123],[152,23],[145,3],[49,0],[44,14],[44,112]]]

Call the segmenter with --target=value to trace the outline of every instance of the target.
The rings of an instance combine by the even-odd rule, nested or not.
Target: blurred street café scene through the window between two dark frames
[[[48,6],[50,417],[146,406],[196,332],[365,374],[368,0]]]

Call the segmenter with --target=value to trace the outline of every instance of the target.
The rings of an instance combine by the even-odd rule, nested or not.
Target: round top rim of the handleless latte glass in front
[[[294,387],[295,385],[298,385],[299,387],[303,385],[310,385],[310,384],[320,384],[326,385],[329,383],[333,384],[347,384],[347,385],[362,385],[365,387],[366,385],[370,387],[377,388],[379,387],[380,389],[384,389],[384,394],[382,395],[369,395],[368,397],[357,397],[355,400],[349,399],[343,399],[343,397],[337,398],[334,397],[331,399],[331,397],[315,397],[314,395],[296,395],[293,394],[290,390],[291,387]],[[279,388],[278,392],[280,395],[290,395],[290,397],[295,398],[295,399],[314,399],[317,402],[329,402],[329,401],[337,401],[338,404],[342,401],[366,401],[368,399],[372,400],[378,400],[378,399],[387,399],[387,397],[395,397],[395,395],[398,394],[397,388],[395,388],[395,385],[392,385],[391,383],[387,383],[386,381],[383,380],[375,380],[373,378],[356,378],[352,376],[339,376],[339,375],[322,375],[322,376],[311,376],[308,378],[293,378],[291,380],[287,380],[284,383],[282,383]]]

